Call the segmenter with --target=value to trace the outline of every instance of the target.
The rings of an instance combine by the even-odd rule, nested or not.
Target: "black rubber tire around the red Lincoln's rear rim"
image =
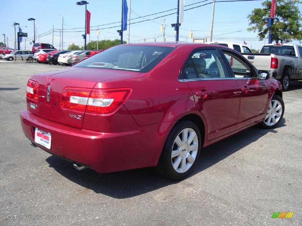
[[[194,162],[193,164],[191,165],[191,167],[188,168],[187,171],[184,171],[183,173],[179,173],[177,172],[174,168],[173,168],[173,165],[172,165],[172,149],[175,147],[175,140],[176,138],[178,137],[178,135],[180,135],[180,133],[186,129],[186,128],[189,128],[189,130],[194,130],[194,132],[196,133],[197,135],[197,139],[198,139],[198,147],[197,147],[197,153],[196,153],[196,150],[194,151],[194,153],[196,154],[195,155],[195,159],[194,159]],[[188,137],[189,137],[189,134],[188,133]],[[194,138],[196,140],[196,138]],[[165,142],[165,146],[162,150],[162,153],[161,153],[161,156],[159,158],[159,162],[156,166],[156,171],[163,177],[166,177],[166,178],[169,178],[169,179],[172,179],[172,180],[180,180],[180,179],[183,179],[185,177],[187,177],[191,172],[192,170],[194,169],[194,167],[196,166],[197,162],[198,162],[198,158],[199,158],[199,155],[200,155],[200,151],[201,151],[201,134],[200,134],[200,131],[197,127],[196,124],[194,124],[193,122],[191,121],[181,121],[179,122],[178,124],[176,124],[173,129],[171,130],[166,142]],[[191,143],[193,145],[193,141]],[[177,147],[177,146],[176,146]],[[188,146],[189,147],[189,146]],[[181,151],[179,153],[188,153],[188,154],[192,154],[193,153],[191,151],[189,151],[189,149],[182,149],[182,148],[179,148]],[[181,156],[176,156],[175,158],[178,158]],[[181,158],[180,161],[182,161],[182,159],[185,159],[185,165],[187,166],[190,165],[189,162],[187,162],[186,158],[183,157]],[[176,162],[176,160],[175,160]],[[179,163],[179,167],[181,168],[181,165],[182,163],[180,162]],[[176,167],[177,168],[177,167]],[[179,169],[180,170],[180,169]]]

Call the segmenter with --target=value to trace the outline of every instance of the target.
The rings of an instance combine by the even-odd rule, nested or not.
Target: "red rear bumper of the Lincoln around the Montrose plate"
[[[34,142],[35,127],[50,132],[50,154],[88,166],[99,173],[157,165],[172,122],[137,126],[123,133],[99,133],[65,126],[32,114],[20,113],[25,136]],[[160,133],[159,133],[160,132]]]

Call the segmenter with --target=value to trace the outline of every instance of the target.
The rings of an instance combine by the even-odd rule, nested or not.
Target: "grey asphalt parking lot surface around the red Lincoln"
[[[302,225],[302,81],[284,93],[278,128],[209,146],[190,177],[169,181],[151,168],[76,171],[29,145],[19,119],[27,80],[64,67],[0,61],[0,225]]]

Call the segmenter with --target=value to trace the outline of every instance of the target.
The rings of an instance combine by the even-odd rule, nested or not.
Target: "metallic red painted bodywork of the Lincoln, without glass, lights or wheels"
[[[183,117],[200,118],[203,146],[208,146],[262,121],[265,114],[259,109],[266,112],[272,95],[281,91],[280,82],[274,79],[181,82],[178,76],[190,53],[209,45],[152,45],[176,48],[146,73],[70,67],[31,76],[39,84],[39,101],[27,98],[27,110],[20,115],[24,134],[34,141],[35,127],[50,132],[51,149],[38,145],[40,148],[97,172],[155,166],[170,131]],[[49,102],[47,86],[52,94]],[[60,100],[66,87],[130,87],[132,93],[115,112],[100,115],[63,109]],[[247,92],[236,93],[242,88]],[[206,92],[207,96],[198,92]],[[31,103],[37,108],[31,108]],[[76,113],[82,114],[82,120],[69,117]]]

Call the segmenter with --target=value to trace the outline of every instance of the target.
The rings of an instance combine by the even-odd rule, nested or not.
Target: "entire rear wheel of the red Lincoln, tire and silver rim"
[[[181,121],[170,132],[158,165],[159,174],[172,180],[188,176],[198,161],[201,134],[191,121]]]

